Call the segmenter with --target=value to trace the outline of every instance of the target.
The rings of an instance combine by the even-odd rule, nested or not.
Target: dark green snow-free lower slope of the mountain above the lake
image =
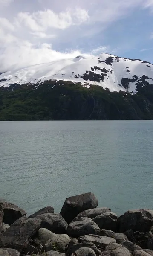
[[[88,89],[80,83],[55,82],[0,88],[0,120],[153,119],[153,85],[130,95],[95,85]]]

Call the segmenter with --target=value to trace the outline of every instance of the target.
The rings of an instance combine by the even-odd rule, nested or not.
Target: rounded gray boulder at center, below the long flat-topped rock
[[[98,225],[90,219],[83,221],[72,221],[67,227],[67,234],[72,237],[79,237],[88,234],[96,234]]]

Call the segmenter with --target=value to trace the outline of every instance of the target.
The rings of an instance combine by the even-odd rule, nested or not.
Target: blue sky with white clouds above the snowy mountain
[[[101,52],[153,63],[153,0],[0,0],[0,71]]]

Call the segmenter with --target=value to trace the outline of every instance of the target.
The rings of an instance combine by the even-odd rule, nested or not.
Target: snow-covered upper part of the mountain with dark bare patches
[[[47,80],[81,82],[85,87],[100,85],[113,91],[136,93],[139,87],[153,84],[153,64],[102,53],[98,56],[77,56],[5,72],[0,87],[11,84],[35,84]]]

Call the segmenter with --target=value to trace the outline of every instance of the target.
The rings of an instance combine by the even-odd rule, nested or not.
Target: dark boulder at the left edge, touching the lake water
[[[4,212],[3,221],[5,224],[12,225],[14,221],[26,215],[26,212],[15,204],[0,201],[0,206]]]

